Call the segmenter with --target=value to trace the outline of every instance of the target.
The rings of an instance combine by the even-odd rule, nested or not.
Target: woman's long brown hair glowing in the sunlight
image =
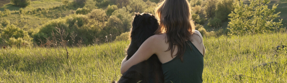
[[[191,21],[191,8],[187,0],[161,0],[155,9],[156,17],[160,23],[155,34],[166,33],[169,47],[166,51],[171,50],[171,57],[178,47],[177,56],[183,61],[183,54],[186,48],[186,40],[191,40],[195,25]],[[192,41],[192,40],[191,40]]]

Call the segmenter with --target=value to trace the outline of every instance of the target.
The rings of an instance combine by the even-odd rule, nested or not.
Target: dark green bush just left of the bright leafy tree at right
[[[234,5],[239,5],[238,0],[219,0],[216,4],[215,18],[218,18],[222,21],[227,21],[228,14],[234,10]]]

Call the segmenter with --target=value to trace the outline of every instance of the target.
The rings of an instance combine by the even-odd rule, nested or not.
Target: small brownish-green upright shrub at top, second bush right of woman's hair
[[[204,14],[207,18],[212,18],[215,14],[217,0],[205,0]]]

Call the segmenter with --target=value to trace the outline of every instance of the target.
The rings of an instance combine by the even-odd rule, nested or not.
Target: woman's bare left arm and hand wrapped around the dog
[[[135,54],[129,59],[126,58],[123,60],[121,65],[121,74],[125,73],[131,66],[136,65],[142,61],[148,60],[153,54],[156,54],[157,51],[157,41],[155,36],[148,38]]]

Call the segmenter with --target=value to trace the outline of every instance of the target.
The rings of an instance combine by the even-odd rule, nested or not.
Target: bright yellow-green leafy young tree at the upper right
[[[281,22],[274,22],[273,20],[278,16],[278,13],[274,14],[277,5],[273,5],[272,9],[268,9],[269,0],[249,0],[250,5],[241,4],[235,6],[234,12],[229,14],[231,21],[228,28],[230,30],[229,35],[242,35],[242,34],[254,34],[271,32],[282,26]]]

